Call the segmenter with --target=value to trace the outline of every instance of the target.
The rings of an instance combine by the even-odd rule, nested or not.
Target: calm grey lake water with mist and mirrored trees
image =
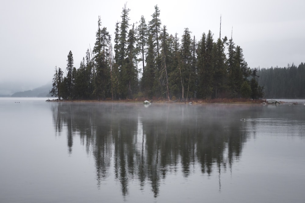
[[[305,202],[303,104],[44,100],[0,98],[0,202]]]

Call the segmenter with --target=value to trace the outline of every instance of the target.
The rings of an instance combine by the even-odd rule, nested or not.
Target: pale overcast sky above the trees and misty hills
[[[158,5],[162,27],[180,39],[187,27],[197,41],[209,30],[216,40],[222,15],[222,37],[230,38],[233,27],[233,41],[243,49],[250,68],[305,62],[304,0],[3,0],[0,83],[44,85],[52,80],[55,66],[66,69],[70,50],[79,68],[89,44],[94,47],[98,16],[113,39],[126,2],[130,24],[142,15],[148,23]]]

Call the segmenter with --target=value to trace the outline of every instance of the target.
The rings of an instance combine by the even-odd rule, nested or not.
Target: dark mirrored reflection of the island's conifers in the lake
[[[217,171],[221,190],[221,173],[231,171],[248,136],[240,121],[246,115],[234,105],[58,103],[52,112],[56,136],[67,136],[68,153],[79,136],[95,159],[98,187],[113,173],[123,196],[136,180],[141,190],[150,184],[156,198],[161,180],[177,174],[179,165],[185,178],[194,167],[208,176]]]

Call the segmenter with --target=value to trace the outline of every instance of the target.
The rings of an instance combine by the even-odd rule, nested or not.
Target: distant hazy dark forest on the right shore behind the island
[[[266,98],[305,98],[305,64],[292,63],[284,68],[260,68],[259,85],[264,86]]]

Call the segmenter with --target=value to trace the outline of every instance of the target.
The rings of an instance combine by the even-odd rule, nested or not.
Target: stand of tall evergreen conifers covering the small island
[[[214,41],[209,30],[197,41],[185,28],[180,40],[178,33],[169,34],[165,25],[161,27],[157,5],[148,23],[141,16],[139,23],[130,25],[129,12],[125,4],[121,21],[115,23],[114,44],[99,16],[95,46],[87,49],[79,68],[74,67],[71,51],[66,76],[63,69],[55,68],[53,96],[69,100],[264,96],[257,69],[248,67],[232,35],[221,38],[220,29]]]

